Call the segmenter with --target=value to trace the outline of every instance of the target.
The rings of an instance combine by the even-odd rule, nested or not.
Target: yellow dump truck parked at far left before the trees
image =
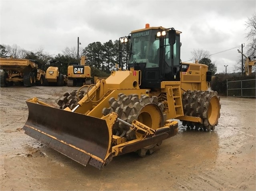
[[[41,67],[40,67],[41,66]],[[0,86],[8,87],[14,83],[24,84],[25,87],[42,85],[45,71],[38,61],[30,59],[0,58]]]

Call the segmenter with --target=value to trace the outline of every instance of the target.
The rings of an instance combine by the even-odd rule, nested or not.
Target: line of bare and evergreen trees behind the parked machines
[[[115,40],[114,42],[109,40],[105,43],[90,43],[87,47],[79,51],[79,58],[81,55],[86,55],[87,65],[92,68],[92,71],[98,69],[98,73],[102,73],[103,75],[110,74],[113,67],[119,64],[119,40]],[[42,48],[35,51],[26,51],[18,45],[0,45],[0,57],[4,56],[12,56],[14,59],[36,60],[44,68],[50,65],[51,60],[56,60],[60,63],[60,71],[63,74],[67,73],[69,63],[80,63],[80,59],[77,60],[76,47],[65,47],[62,53],[52,56]]]

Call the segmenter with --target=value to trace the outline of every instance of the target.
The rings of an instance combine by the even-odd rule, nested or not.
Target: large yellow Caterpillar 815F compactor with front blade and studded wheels
[[[207,91],[211,77],[206,65],[180,62],[180,34],[146,25],[121,37],[120,57],[127,53],[127,70],[112,71],[79,97],[81,87],[78,102],[65,97],[60,108],[38,98],[27,100],[25,133],[83,165],[101,169],[114,156],[154,152],[177,134],[178,120],[171,119],[189,128],[214,130],[219,97]]]

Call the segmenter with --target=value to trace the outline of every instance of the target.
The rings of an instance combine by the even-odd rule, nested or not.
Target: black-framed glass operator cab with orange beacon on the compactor
[[[141,70],[141,88],[160,88],[162,81],[180,80],[180,33],[147,25],[131,32],[128,69]]]

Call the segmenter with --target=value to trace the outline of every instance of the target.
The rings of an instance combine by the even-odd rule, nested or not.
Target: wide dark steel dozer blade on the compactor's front
[[[101,169],[112,158],[111,140],[117,114],[104,119],[26,101],[25,134],[81,163]]]

